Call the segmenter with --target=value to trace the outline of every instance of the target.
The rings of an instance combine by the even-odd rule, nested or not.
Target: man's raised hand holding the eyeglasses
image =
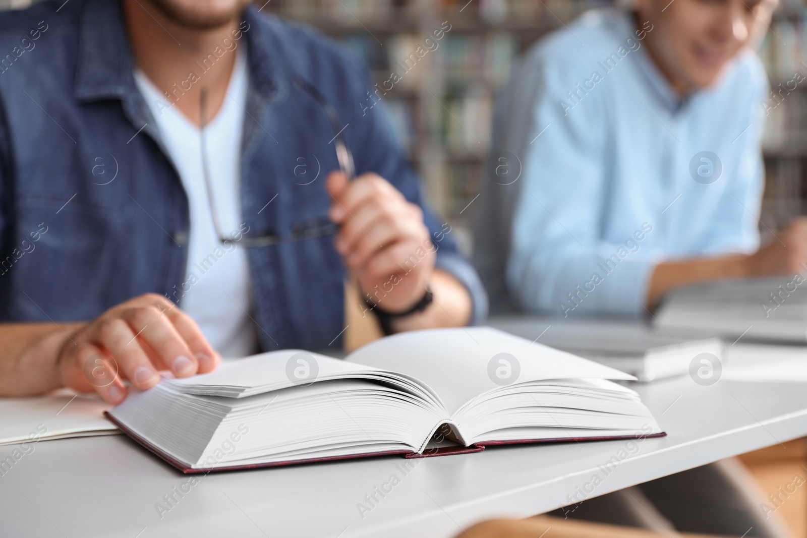
[[[437,250],[423,211],[383,177],[366,173],[348,182],[328,175],[329,216],[340,224],[337,251],[362,292],[387,312],[402,312],[423,297]]]

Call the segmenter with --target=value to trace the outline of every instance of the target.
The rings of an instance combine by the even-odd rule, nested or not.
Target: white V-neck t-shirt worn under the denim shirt
[[[241,106],[246,104],[248,80],[245,49],[240,47],[234,53],[236,64],[228,84],[229,95],[205,127],[207,169],[224,236],[233,236],[242,223]],[[201,77],[195,84],[204,83],[204,75]],[[135,82],[157,122],[189,203],[188,265],[182,284],[174,290],[179,306],[199,323],[204,336],[224,357],[250,355],[257,351],[257,333],[248,314],[252,305],[246,249],[221,244],[216,236],[203,176],[199,128],[140,69],[135,70]]]

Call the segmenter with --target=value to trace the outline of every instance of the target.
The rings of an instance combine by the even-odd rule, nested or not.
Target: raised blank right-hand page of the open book
[[[515,382],[636,379],[491,327],[403,332],[367,344],[345,360],[420,379],[437,392],[451,415],[470,399]]]

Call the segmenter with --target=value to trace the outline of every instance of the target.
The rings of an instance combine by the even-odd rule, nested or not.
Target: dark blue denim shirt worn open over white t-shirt
[[[232,53],[238,39],[249,50],[244,229],[285,236],[327,215],[331,203],[324,177],[338,169],[334,133],[316,101],[291,84],[294,73],[336,108],[357,173],[378,173],[423,206],[383,109],[362,106],[366,69],[315,32],[251,5],[240,29],[211,54]],[[182,75],[174,98],[190,83]],[[188,202],[166,155],[136,89],[118,1],[43,2],[0,15],[0,320],[93,319],[147,292],[182,307]],[[300,163],[318,179],[300,181]],[[479,323],[487,296],[478,274],[449,225],[424,215],[437,266],[470,291]],[[341,344],[345,267],[333,240],[248,248],[261,348]]]

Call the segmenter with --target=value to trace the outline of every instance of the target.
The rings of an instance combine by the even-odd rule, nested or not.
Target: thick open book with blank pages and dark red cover
[[[663,435],[629,374],[490,327],[388,336],[344,361],[284,350],[163,379],[109,411],[186,473],[485,445]],[[445,446],[453,444],[454,447]]]

